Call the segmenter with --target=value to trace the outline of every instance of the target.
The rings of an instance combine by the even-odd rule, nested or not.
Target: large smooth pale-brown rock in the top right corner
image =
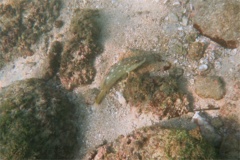
[[[240,44],[240,1],[206,0],[196,3],[194,27],[224,47],[237,48]]]

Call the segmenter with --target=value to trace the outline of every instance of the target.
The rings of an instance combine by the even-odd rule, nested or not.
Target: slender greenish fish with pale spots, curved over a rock
[[[100,104],[112,86],[122,77],[134,71],[146,61],[146,57],[134,56],[125,58],[113,65],[100,87],[100,93],[96,97],[95,103]]]

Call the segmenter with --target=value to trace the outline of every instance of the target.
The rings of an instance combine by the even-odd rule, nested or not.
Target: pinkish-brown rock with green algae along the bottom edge
[[[185,131],[158,126],[138,129],[114,142],[99,146],[85,159],[214,159],[216,150],[198,129]]]

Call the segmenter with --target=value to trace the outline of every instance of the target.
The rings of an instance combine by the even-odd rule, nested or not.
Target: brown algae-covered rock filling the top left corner
[[[30,56],[32,44],[52,29],[61,0],[9,0],[0,4],[0,68],[20,56]]]

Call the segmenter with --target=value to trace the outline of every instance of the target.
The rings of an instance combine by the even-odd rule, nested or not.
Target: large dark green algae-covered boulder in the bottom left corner
[[[0,92],[0,159],[69,159],[76,147],[74,107],[45,81],[18,81]]]

